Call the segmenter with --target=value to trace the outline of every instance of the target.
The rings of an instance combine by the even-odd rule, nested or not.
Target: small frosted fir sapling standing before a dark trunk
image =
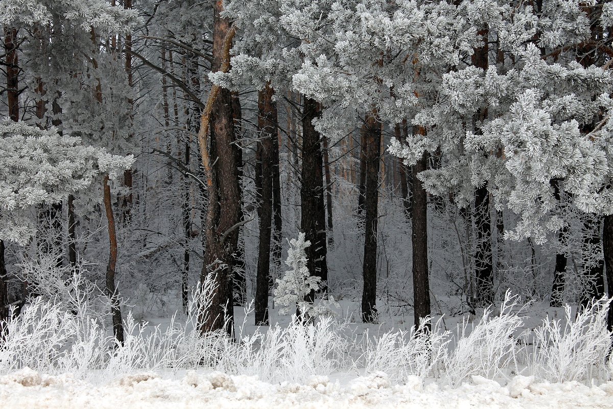
[[[333,315],[330,305],[338,306],[332,296],[326,301],[322,300],[318,305],[305,300],[307,294],[318,291],[325,284],[321,277],[310,275],[307,268],[305,248],[310,245],[311,242],[305,241],[304,233],[300,233],[298,239],[289,240],[285,264],[291,269],[286,270],[283,277],[276,279],[275,288],[275,304],[282,306],[279,313],[287,315],[291,313],[293,307],[297,307],[305,321],[313,321],[318,316]]]

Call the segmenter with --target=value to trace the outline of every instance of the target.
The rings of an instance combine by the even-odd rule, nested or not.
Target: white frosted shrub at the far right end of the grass
[[[564,307],[564,319],[543,319],[534,330],[530,371],[551,382],[587,380],[606,372],[611,348],[607,310],[611,299],[594,301],[573,319]]]

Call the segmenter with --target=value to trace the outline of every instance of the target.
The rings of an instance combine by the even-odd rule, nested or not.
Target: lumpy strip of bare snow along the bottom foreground
[[[70,374],[41,375],[22,369],[0,377],[0,404],[7,408],[611,408],[613,382],[535,383],[515,377],[505,386],[474,377],[458,388],[417,378],[392,386],[384,373],[332,382],[312,377],[306,384],[270,384],[256,377],[190,371],[178,378],[154,373],[126,375],[94,385]]]

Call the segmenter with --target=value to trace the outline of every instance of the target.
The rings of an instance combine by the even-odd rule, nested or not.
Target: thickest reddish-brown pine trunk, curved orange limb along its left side
[[[230,47],[234,28],[223,11],[223,0],[216,0],[213,10],[213,64],[211,72],[229,69]],[[211,123],[210,150],[207,148],[209,121]],[[227,331],[234,338],[234,300],[232,270],[238,245],[241,220],[241,192],[239,166],[235,146],[232,94],[213,85],[207,106],[202,113],[198,133],[202,166],[207,175],[208,208],[205,219],[205,254],[200,280],[207,277],[216,286],[208,310],[199,314],[201,332]]]

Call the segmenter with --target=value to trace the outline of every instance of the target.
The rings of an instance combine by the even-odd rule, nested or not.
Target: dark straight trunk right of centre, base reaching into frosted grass
[[[425,135],[425,129],[417,129]],[[430,282],[428,280],[428,207],[427,193],[424,184],[417,178],[419,172],[426,169],[428,154],[424,155],[411,168],[413,174],[413,229],[411,242],[413,243],[413,311],[414,325],[419,327],[422,319],[430,316]]]

